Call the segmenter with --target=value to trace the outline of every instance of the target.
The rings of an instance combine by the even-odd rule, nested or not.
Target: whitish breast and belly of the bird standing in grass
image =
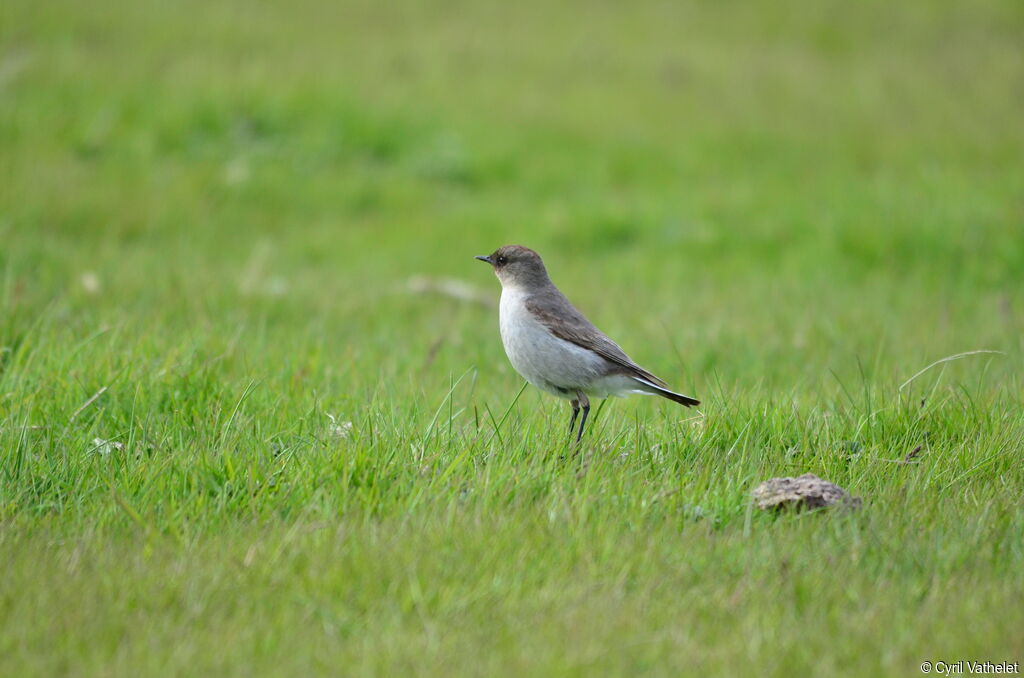
[[[553,335],[524,303],[514,287],[502,289],[501,331],[505,352],[516,372],[538,388],[573,398],[578,390],[592,392],[604,380],[604,358]]]

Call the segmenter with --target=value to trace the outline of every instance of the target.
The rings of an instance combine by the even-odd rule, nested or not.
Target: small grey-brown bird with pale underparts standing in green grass
[[[541,256],[520,245],[506,245],[476,257],[495,269],[502,284],[500,324],[505,353],[516,372],[541,390],[572,405],[569,432],[590,414],[590,398],[643,393],[691,407],[699,400],[669,390],[668,384],[634,363],[569,303],[548,278]]]

